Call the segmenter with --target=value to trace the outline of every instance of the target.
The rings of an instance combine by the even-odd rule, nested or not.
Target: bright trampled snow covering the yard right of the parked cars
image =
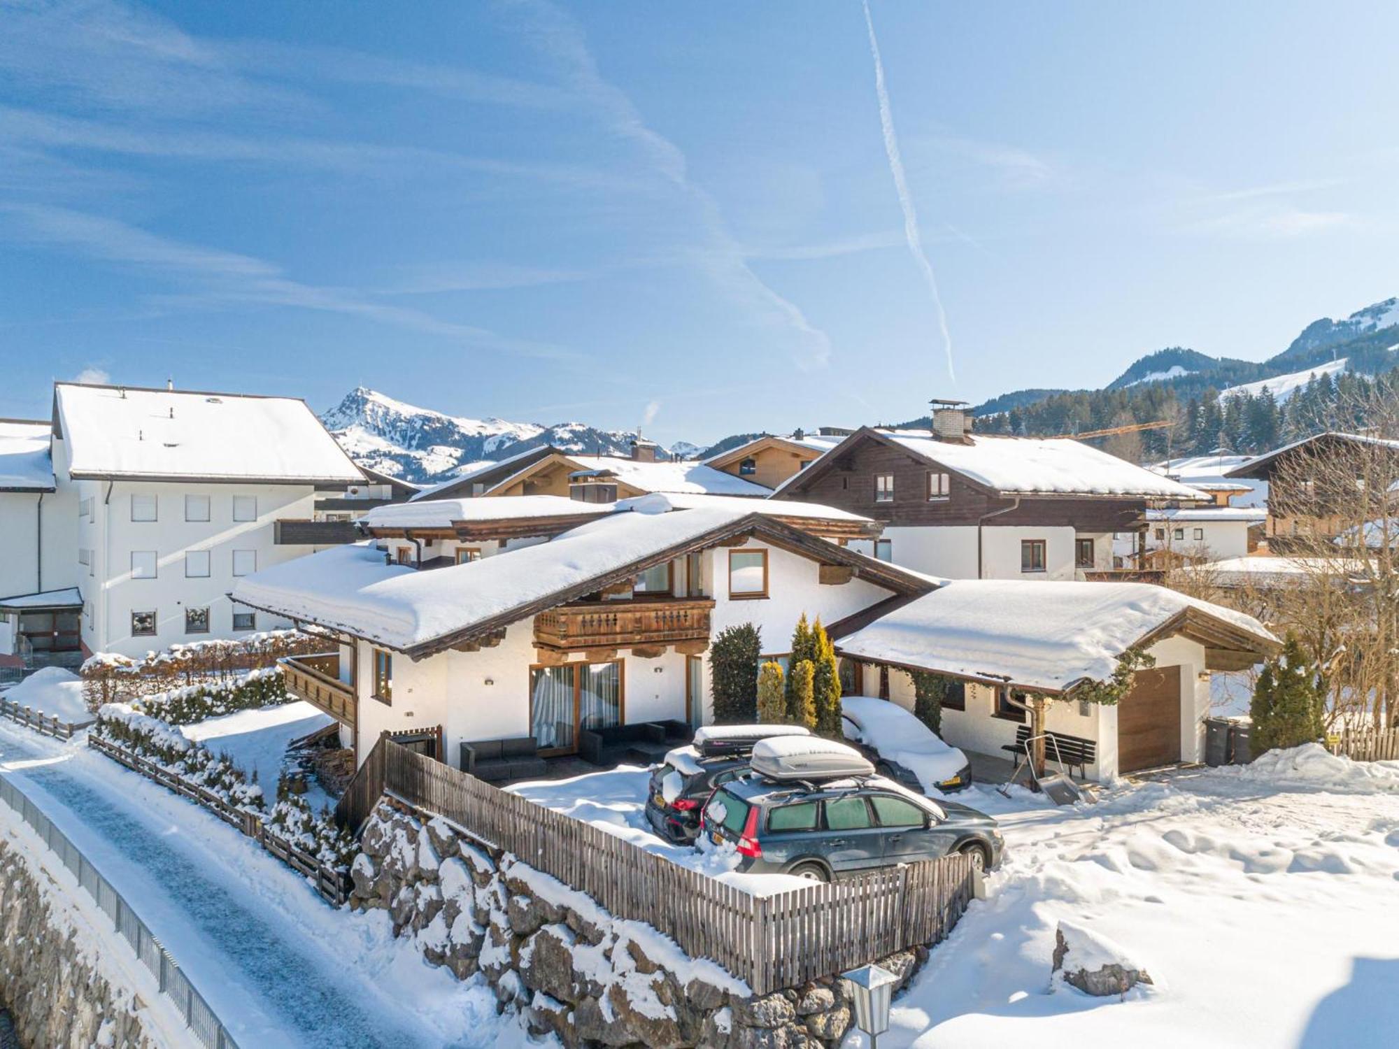
[[[1006,862],[895,1001],[881,1049],[1399,1043],[1399,762],[1312,748],[1077,810],[989,787],[958,800],[1000,820]],[[1157,987],[1049,993],[1059,919],[1116,940]]]

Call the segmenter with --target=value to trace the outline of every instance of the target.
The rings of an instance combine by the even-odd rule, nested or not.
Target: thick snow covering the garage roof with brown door
[[[1150,583],[954,579],[851,634],[848,656],[1030,690],[1107,680],[1118,657],[1195,608],[1274,642],[1258,620]]]

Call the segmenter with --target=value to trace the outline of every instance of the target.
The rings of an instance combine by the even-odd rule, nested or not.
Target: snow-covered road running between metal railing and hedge
[[[395,940],[386,912],[333,911],[238,831],[81,740],[0,722],[0,773],[132,901],[239,1045],[527,1043],[483,982]]]

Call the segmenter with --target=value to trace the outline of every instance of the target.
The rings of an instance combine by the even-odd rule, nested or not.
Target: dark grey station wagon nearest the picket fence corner
[[[732,842],[739,870],[813,881],[963,852],[989,870],[1004,845],[996,821],[956,801],[932,800],[883,776],[776,783],[748,775],[705,804],[701,832]]]

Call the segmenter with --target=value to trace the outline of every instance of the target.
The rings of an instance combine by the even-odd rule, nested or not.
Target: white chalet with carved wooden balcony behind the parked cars
[[[463,743],[526,737],[571,754],[585,732],[701,725],[725,628],[751,622],[781,655],[803,613],[832,622],[935,586],[841,544],[877,537],[876,522],[811,504],[445,499],[382,508],[364,527],[368,541],[234,594],[334,638],[333,656],[288,659],[284,674],[361,759],[383,732],[421,734],[456,764]],[[466,543],[481,554],[448,552]],[[413,544],[424,559],[400,562]]]

